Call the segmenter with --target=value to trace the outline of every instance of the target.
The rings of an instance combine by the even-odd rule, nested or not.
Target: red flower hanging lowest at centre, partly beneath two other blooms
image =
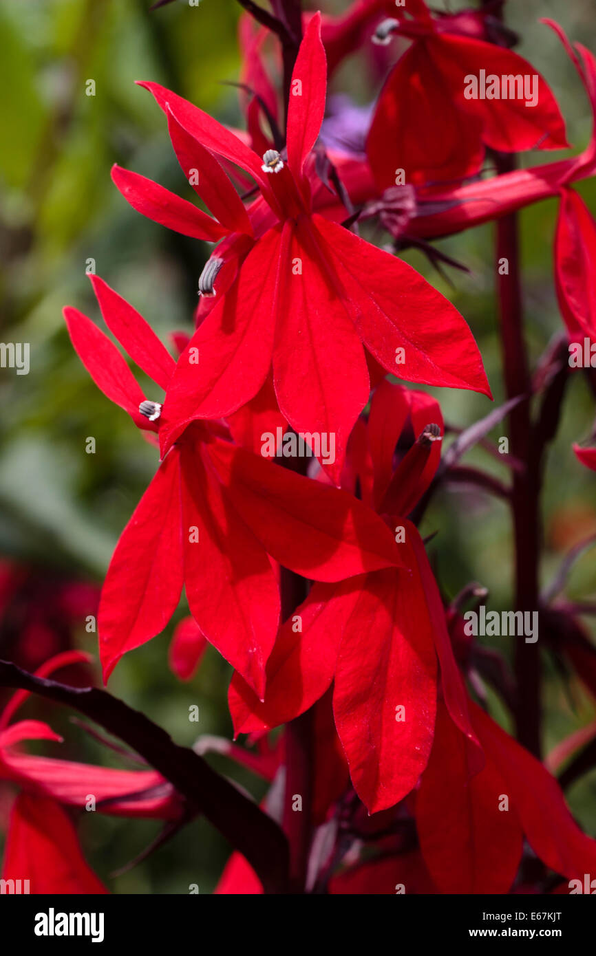
[[[235,732],[248,733],[292,720],[334,682],[336,727],[352,783],[370,813],[401,800],[426,767],[434,728],[437,657],[453,721],[477,744],[422,539],[414,525],[397,516],[411,510],[438,465],[440,443],[427,440],[428,435],[435,437],[425,428],[429,421],[442,421],[430,396],[382,382],[368,422],[366,454],[372,485],[365,477],[369,467],[360,443],[360,458],[351,472],[364,497],[368,493],[384,509],[391,508],[387,524],[396,532],[404,530],[404,535],[398,534],[398,548],[406,567],[340,585],[316,584],[280,629],[267,665],[264,703],[240,675],[233,676],[230,687]],[[408,422],[417,441],[392,482],[393,451]]]

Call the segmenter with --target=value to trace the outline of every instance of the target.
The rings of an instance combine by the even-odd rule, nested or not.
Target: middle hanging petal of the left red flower
[[[276,577],[246,514],[222,489],[207,453],[211,448],[199,457],[183,445],[188,606],[207,640],[262,697],[279,619]],[[198,541],[190,540],[193,528]]]

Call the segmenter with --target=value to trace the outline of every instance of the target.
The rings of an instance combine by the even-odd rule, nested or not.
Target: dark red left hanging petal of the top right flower
[[[463,90],[463,79],[462,79]],[[386,79],[366,141],[383,190],[396,183],[437,184],[474,175],[482,163],[481,125],[453,101],[426,43],[413,43]]]

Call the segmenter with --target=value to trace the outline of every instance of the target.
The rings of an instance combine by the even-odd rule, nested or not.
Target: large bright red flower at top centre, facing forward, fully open
[[[203,277],[213,307],[167,388],[163,453],[189,422],[230,415],[252,399],[273,362],[285,419],[297,431],[335,433],[329,471],[337,480],[368,399],[363,342],[400,378],[490,394],[474,338],[453,305],[406,263],[313,212],[310,153],[325,79],[317,14],[293,74],[287,157],[273,149],[259,157],[186,100],[143,84],[165,110],[178,159],[218,221],[208,225],[194,206],[118,167],[116,185],[132,206],[170,228],[210,240],[225,235]],[[248,210],[215,157],[259,186]]]

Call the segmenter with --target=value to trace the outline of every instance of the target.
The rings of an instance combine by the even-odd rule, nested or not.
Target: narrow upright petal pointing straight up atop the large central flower
[[[320,13],[315,13],[298,50],[288,103],[288,165],[297,177],[319,136],[326,90],[327,60],[320,40]]]

